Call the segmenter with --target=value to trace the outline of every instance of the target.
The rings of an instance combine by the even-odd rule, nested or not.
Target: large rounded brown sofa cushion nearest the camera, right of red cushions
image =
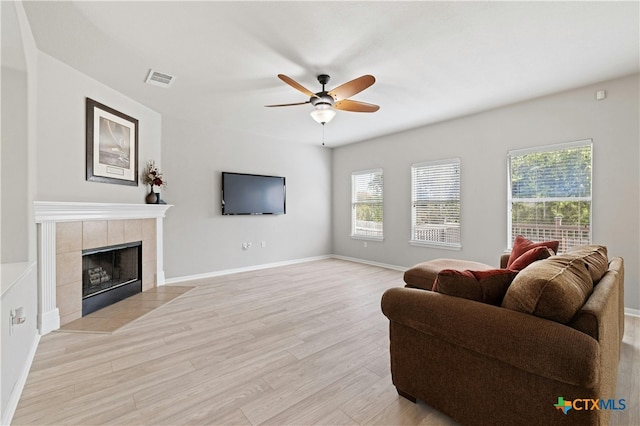
[[[580,257],[552,256],[518,273],[504,296],[502,307],[566,324],[592,290],[589,270]]]

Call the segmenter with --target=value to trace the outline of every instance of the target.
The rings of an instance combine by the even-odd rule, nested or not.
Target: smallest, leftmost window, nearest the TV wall
[[[382,239],[382,187],[382,169],[351,174],[352,237]]]

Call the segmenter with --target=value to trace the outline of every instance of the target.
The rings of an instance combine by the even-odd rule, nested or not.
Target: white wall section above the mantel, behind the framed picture
[[[91,98],[138,119],[139,173],[161,162],[159,113],[59,60],[38,55],[38,201],[143,203],[149,188],[86,181],[85,101]]]

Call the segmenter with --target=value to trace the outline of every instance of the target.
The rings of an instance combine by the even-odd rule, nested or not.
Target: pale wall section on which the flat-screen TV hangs
[[[331,253],[331,151],[266,143],[207,123],[163,119],[167,279]],[[223,171],[284,176],[287,213],[222,216]],[[261,247],[261,242],[266,247]],[[242,250],[243,242],[252,242]]]

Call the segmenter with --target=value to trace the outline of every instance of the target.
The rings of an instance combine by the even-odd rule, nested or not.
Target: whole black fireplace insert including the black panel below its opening
[[[142,292],[142,241],[82,251],[82,316]]]

